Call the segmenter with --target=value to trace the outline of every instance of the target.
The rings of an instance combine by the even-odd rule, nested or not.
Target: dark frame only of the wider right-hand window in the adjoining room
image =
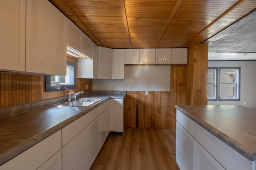
[[[237,99],[225,99],[220,97],[220,90],[218,91],[218,101],[240,101],[240,84],[241,84],[241,67],[218,67],[218,80],[220,79],[221,69],[238,69],[238,78],[236,77],[238,83],[237,84]],[[218,86],[220,87],[220,81],[218,81]],[[220,89],[220,88],[219,88]]]

